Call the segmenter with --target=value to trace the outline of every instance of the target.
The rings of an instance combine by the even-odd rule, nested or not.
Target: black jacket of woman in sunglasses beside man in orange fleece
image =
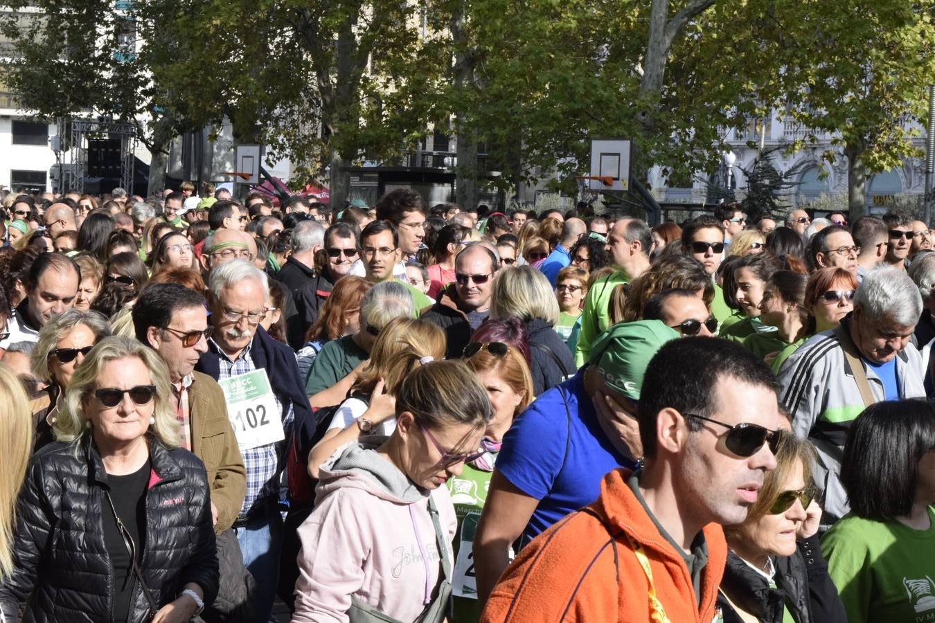
[[[721,594],[717,603],[724,623],[741,623],[741,617],[724,599],[764,623],[782,623],[783,606],[796,623],[847,623],[847,613],[838,589],[827,574],[818,535],[798,541],[792,556],[773,558],[777,588],[770,588],[765,577],[756,573],[737,554],[727,552]]]

